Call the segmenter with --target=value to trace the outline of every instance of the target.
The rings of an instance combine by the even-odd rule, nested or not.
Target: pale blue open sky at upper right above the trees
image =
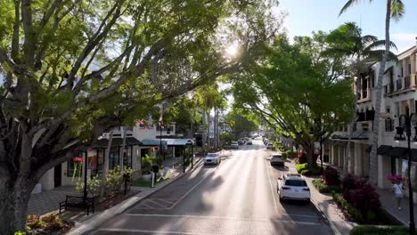
[[[279,9],[287,12],[284,26],[290,38],[308,36],[312,31],[329,32],[347,21],[355,21],[361,26],[364,35],[385,38],[385,7],[386,1],[358,1],[339,17],[340,9],[347,0],[279,0]],[[391,20],[390,36],[402,53],[416,43],[417,12],[416,0],[403,0],[405,16],[399,20]],[[395,52],[396,53],[396,52]]]

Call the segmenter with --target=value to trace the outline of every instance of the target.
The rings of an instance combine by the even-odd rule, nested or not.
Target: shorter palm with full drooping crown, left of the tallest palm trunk
[[[348,56],[353,59],[351,63],[351,69],[356,77],[356,100],[354,103],[354,113],[356,112],[356,103],[359,99],[359,77],[363,72],[366,72],[369,68],[370,62],[381,61],[385,50],[381,50],[385,45],[385,40],[378,40],[376,36],[362,35],[362,29],[359,28],[355,22],[347,22],[339,28],[331,31],[326,38],[329,43],[329,49],[325,53],[340,54],[342,56]],[[397,46],[389,42],[390,47],[397,49]],[[397,56],[388,52],[389,59],[397,60]],[[349,133],[353,133],[353,125],[349,127]],[[344,161],[344,169],[347,171],[347,162],[350,156],[350,135],[347,142],[347,158]]]

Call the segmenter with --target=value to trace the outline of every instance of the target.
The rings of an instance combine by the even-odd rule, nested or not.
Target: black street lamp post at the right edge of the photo
[[[411,159],[412,159],[412,150],[410,147],[410,137],[411,137],[411,127],[417,126],[417,114],[412,113],[410,114],[410,110],[408,107],[405,108],[405,114],[399,117],[399,127],[405,128],[405,133],[407,135],[407,150],[408,150],[408,169],[407,169],[407,176],[408,176],[408,206],[409,206],[409,227],[410,227],[410,234],[413,235],[415,231],[415,223],[414,223],[414,204],[413,204],[413,189],[411,183]],[[415,128],[415,127],[414,127]],[[416,128],[417,130],[417,128]],[[397,129],[398,131],[398,129]],[[401,130],[400,130],[401,131]],[[397,132],[398,134],[398,132]],[[402,134],[402,132],[401,132]],[[402,136],[401,136],[402,137]],[[414,137],[415,139],[415,137]],[[397,139],[396,139],[397,140]]]

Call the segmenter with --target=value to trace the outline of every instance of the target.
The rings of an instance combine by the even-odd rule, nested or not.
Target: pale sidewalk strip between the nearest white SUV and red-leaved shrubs
[[[293,162],[291,162],[289,166],[291,173],[297,173]],[[331,231],[333,231],[336,235],[349,234],[349,231],[353,229],[355,224],[344,220],[344,218],[340,215],[340,211],[332,202],[331,196],[324,195],[315,189],[313,180],[317,177],[304,176],[304,178],[306,179],[308,188],[310,188],[311,202],[320,211],[320,213],[326,217],[330,224]]]

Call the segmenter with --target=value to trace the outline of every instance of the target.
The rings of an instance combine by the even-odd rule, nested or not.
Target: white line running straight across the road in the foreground
[[[146,217],[184,217],[184,218],[198,218],[198,219],[224,219],[224,220],[244,220],[244,221],[276,221],[276,222],[294,222],[294,223],[309,223],[296,222],[289,220],[270,219],[266,217],[233,217],[233,216],[216,216],[216,215],[166,215],[166,214],[124,214],[128,216],[146,216]],[[321,218],[315,215],[297,215],[297,214],[279,214],[288,216],[300,216],[308,218]],[[317,223],[314,223],[317,224]]]

